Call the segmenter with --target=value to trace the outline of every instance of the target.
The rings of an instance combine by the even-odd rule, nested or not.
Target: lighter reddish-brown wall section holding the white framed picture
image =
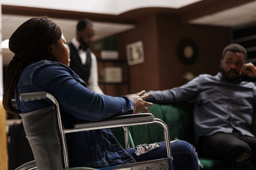
[[[129,67],[131,93],[159,88],[156,29],[156,16],[152,15],[147,18],[141,18],[136,28],[117,35],[120,57],[127,57],[127,44],[143,41],[145,62]]]

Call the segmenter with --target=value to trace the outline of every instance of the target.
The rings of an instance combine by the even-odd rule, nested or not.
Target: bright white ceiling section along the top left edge
[[[119,15],[138,8],[181,8],[198,1],[202,0],[1,0],[1,4]]]

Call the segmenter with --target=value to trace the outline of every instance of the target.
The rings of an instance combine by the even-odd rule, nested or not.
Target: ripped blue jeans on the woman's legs
[[[142,147],[145,149],[141,149]],[[171,143],[171,149],[175,170],[199,170],[198,158],[193,146],[186,141],[177,140]],[[151,145],[139,145],[136,148],[127,149],[127,152],[136,162],[167,157],[164,142]]]

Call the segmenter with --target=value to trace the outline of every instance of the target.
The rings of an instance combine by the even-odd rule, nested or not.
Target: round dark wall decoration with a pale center
[[[193,64],[197,57],[197,47],[190,39],[182,39],[177,46],[177,56],[183,64]]]

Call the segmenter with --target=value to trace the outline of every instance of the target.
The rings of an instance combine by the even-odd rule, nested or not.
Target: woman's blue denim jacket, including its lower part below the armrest
[[[42,60],[24,69],[15,90],[16,104],[22,113],[52,104],[48,99],[20,102],[21,93],[38,91],[48,92],[57,99],[65,128],[73,127],[81,120],[103,120],[135,110],[134,101],[127,97],[111,97],[88,90],[86,83],[60,62]],[[104,167],[134,162],[109,129],[67,134],[66,139],[70,167]]]

